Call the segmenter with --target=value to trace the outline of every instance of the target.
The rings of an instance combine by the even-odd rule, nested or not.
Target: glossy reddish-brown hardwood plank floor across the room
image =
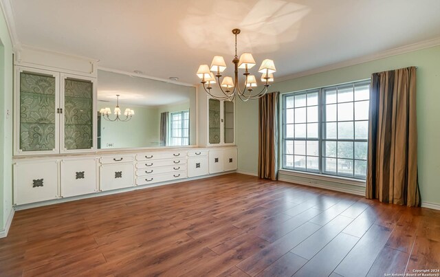
[[[230,174],[16,212],[0,276],[440,269],[440,212]]]

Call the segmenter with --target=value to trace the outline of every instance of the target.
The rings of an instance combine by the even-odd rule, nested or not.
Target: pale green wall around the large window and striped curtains
[[[422,202],[440,204],[440,46],[381,58],[359,65],[276,82],[281,93],[370,78],[373,72],[417,66],[419,185]],[[258,101],[236,103],[239,170],[256,174],[258,163]]]

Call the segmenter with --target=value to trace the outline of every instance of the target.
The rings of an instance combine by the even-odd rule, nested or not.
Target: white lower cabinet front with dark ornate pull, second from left
[[[61,195],[72,197],[96,192],[96,159],[61,161]]]

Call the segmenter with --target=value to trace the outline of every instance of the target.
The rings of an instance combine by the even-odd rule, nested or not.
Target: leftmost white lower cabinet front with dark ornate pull
[[[56,161],[14,164],[14,203],[21,205],[57,197]]]

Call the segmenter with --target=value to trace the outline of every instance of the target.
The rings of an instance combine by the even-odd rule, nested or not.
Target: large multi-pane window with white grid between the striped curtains
[[[365,179],[370,82],[283,96],[283,168]]]

